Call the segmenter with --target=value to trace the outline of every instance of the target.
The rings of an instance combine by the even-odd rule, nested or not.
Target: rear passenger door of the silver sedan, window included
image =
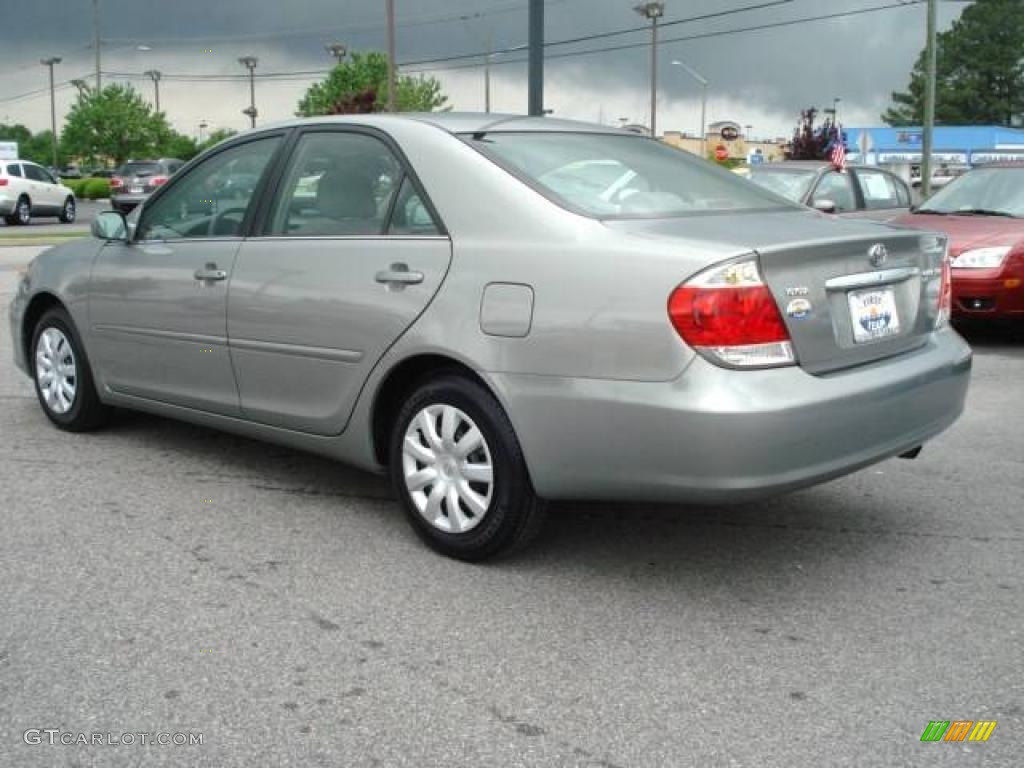
[[[231,275],[242,409],[338,434],[369,373],[436,293],[452,246],[383,134],[306,130],[278,189],[264,234],[243,244]]]

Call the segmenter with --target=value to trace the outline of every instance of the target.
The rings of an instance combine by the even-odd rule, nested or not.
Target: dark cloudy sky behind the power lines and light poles
[[[4,0],[4,4],[14,0]],[[636,30],[643,19],[633,0],[547,0],[549,43]],[[940,29],[965,2],[942,0]],[[398,61],[428,71],[443,84],[456,110],[483,108],[480,58],[417,65],[526,42],[527,0],[395,0]],[[876,125],[889,93],[906,86],[924,44],[925,5],[918,0],[667,0],[659,47],[658,127],[696,131],[699,86],[682,59],[710,81],[708,120],[752,125],[756,136],[788,135],[800,110],[829,106],[850,127]],[[762,7],[752,7],[762,6]],[[768,6],[768,7],[764,7]],[[813,16],[896,6],[843,17],[768,29]],[[60,56],[57,114],[72,103],[74,78],[93,72],[92,0],[32,0],[4,13],[0,27],[0,120],[49,127],[46,69]],[[99,0],[104,82],[127,81],[152,98],[146,70],[164,73],[161,102],[174,126],[196,135],[247,127],[248,84],[239,56],[259,57],[258,73],[307,73],[333,61],[324,46],[386,48],[384,0]],[[740,12],[723,13],[749,8]],[[696,20],[694,16],[719,14]],[[687,39],[679,39],[687,38]],[[674,40],[675,39],[675,40]],[[648,120],[648,48],[643,30],[548,48],[546,106],[560,117],[615,123]],[[637,47],[626,47],[641,44]],[[620,50],[584,51],[618,46]],[[494,111],[526,108],[524,55],[494,58]],[[220,79],[216,79],[220,76]],[[187,78],[187,79],[185,79]],[[260,121],[290,117],[316,75],[257,82]],[[62,84],[62,85],[61,85]]]

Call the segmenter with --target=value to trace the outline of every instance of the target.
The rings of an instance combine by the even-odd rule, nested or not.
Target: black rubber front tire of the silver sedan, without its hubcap
[[[63,413],[54,410],[46,400],[40,384],[40,371],[37,350],[39,340],[49,329],[59,331],[71,346],[74,355],[75,394],[71,400],[71,407]],[[88,432],[102,426],[110,415],[110,409],[99,400],[96,394],[96,387],[92,380],[92,371],[89,368],[89,359],[86,357],[85,348],[75,330],[68,312],[61,307],[47,309],[43,316],[39,318],[36,328],[32,332],[32,346],[29,348],[29,360],[32,366],[32,380],[36,386],[36,396],[43,413],[54,425],[69,432]]]

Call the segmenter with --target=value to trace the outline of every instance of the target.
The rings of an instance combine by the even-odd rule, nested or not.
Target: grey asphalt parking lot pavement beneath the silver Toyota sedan
[[[0,304],[36,249],[0,248]],[[0,334],[0,766],[1024,765],[1024,327],[916,461],[422,547],[378,477],[137,415],[63,434]],[[923,743],[995,720],[987,743]],[[191,746],[27,744],[202,733]]]

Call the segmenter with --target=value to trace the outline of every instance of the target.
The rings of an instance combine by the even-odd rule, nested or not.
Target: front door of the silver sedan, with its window
[[[129,242],[96,257],[89,298],[89,352],[104,386],[219,414],[238,415],[227,349],[227,286],[256,195],[232,188],[262,179],[283,134],[254,137],[176,177],[141,210]]]

